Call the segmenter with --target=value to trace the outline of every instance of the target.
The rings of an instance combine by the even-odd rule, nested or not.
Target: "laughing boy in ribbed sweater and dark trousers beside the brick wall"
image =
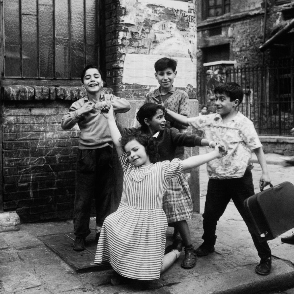
[[[68,130],[78,123],[80,128],[76,161],[76,192],[74,201],[73,248],[85,249],[89,228],[91,200],[96,200],[96,233],[100,233],[103,220],[110,213],[112,171],[112,140],[107,120],[100,109],[113,106],[115,113],[130,110],[126,99],[101,93],[103,80],[97,66],[88,65],[81,74],[86,97],[74,102],[61,120],[61,128]]]

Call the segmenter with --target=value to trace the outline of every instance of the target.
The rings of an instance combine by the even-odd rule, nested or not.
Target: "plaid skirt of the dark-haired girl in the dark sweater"
[[[183,173],[168,181],[168,187],[163,196],[162,209],[168,223],[192,218],[193,203],[190,188]]]

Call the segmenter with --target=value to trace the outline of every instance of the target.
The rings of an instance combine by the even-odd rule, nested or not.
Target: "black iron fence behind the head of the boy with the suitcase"
[[[290,136],[294,127],[293,59],[273,62],[268,67],[242,66],[203,68],[198,74],[199,104],[214,111],[214,88],[235,82],[244,89],[238,110],[253,121],[259,135]]]

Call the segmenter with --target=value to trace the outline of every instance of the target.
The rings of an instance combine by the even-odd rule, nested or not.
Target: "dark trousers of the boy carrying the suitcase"
[[[271,256],[271,251],[268,243],[266,241],[259,242],[253,230],[250,218],[245,211],[244,200],[252,195],[254,195],[252,173],[248,168],[242,178],[225,180],[209,179],[203,213],[204,234],[202,239],[206,241],[208,245],[215,244],[216,224],[223,215],[230,199],[232,199],[248,227],[259,257],[269,258]]]

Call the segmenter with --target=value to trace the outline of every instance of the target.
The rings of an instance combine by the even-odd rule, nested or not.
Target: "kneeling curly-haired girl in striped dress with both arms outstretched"
[[[220,158],[222,153],[215,147],[203,156],[156,162],[157,144],[153,138],[129,133],[122,137],[113,107],[103,115],[123,166],[123,194],[117,211],[103,223],[94,263],[110,264],[123,277],[155,280],[182,249],[179,244],[164,254],[167,220],[161,206],[168,181],[183,170]]]

